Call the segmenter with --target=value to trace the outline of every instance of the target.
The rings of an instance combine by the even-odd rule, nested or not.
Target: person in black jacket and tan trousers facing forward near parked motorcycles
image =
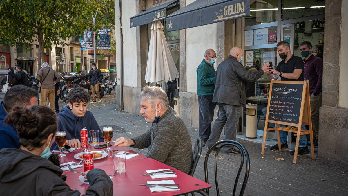
[[[87,79],[87,82],[90,83],[90,86],[92,88],[92,97],[93,100],[91,103],[97,102],[95,98],[95,92],[97,93],[97,97],[99,98],[99,102],[102,101],[102,98],[100,98],[100,92],[99,92],[99,83],[103,80],[103,74],[102,72],[97,69],[95,63],[92,63],[92,69],[89,71],[89,76]]]

